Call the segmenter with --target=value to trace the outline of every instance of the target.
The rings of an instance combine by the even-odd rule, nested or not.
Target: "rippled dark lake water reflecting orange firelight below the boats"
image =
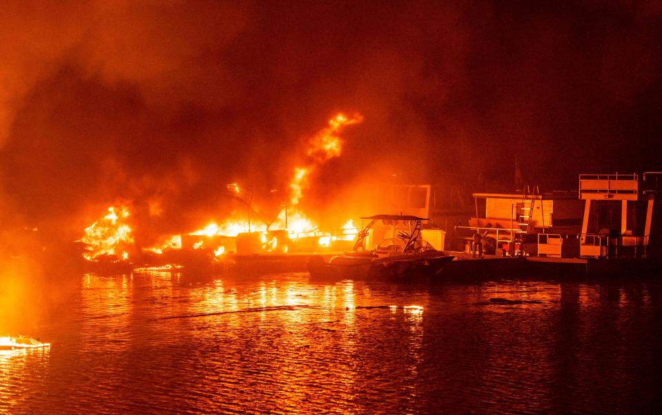
[[[144,271],[18,292],[30,302],[4,311],[0,335],[52,345],[1,352],[2,414],[662,408],[656,280],[405,286]]]

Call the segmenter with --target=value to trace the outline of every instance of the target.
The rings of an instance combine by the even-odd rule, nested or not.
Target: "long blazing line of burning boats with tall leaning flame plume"
[[[286,190],[278,193],[286,194],[286,199],[278,197],[280,206],[275,216],[271,213],[275,208],[273,200],[266,203],[266,206],[271,205],[267,209],[260,209],[260,201],[253,202],[254,191],[233,182],[226,184],[228,194],[224,197],[233,204],[239,203],[241,208],[226,215],[223,222],[216,222],[218,218],[213,217],[202,229],[180,235],[160,235],[156,245],[140,247],[136,246],[133,225],[128,224],[133,222],[129,220],[128,206],[124,203],[113,205],[77,240],[82,244],[86,266],[90,271],[109,273],[130,271],[135,264],[167,269],[184,267],[194,271],[225,271],[228,267],[260,262],[261,269],[270,271],[280,269],[282,264],[287,264],[287,267],[294,264],[298,269],[305,269],[306,262],[302,258],[306,255],[344,249],[358,233],[352,220],[344,218],[346,222],[342,228],[337,225],[320,226],[304,213],[300,202],[315,171],[340,156],[340,133],[346,126],[360,124],[362,119],[360,114],[348,117],[340,113],[329,119],[328,125],[309,139],[302,160],[293,168]],[[278,189],[273,189],[271,193],[275,191]],[[159,209],[152,209],[150,205],[150,215],[152,212],[160,215],[157,213]],[[272,216],[273,219],[268,220]],[[137,239],[140,240],[139,236]],[[262,262],[270,266],[262,267]],[[279,267],[271,266],[273,264]]]

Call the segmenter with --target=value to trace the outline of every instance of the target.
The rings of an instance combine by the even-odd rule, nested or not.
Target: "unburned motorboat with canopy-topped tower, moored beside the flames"
[[[422,240],[421,221],[427,220],[411,215],[374,215],[367,226],[357,235],[353,251],[335,255],[324,262],[315,255],[308,262],[311,278],[320,280],[380,280],[396,282],[425,281],[453,260],[453,256]],[[374,249],[366,249],[370,230],[378,223],[400,227],[395,238],[386,238]],[[404,228],[404,229],[403,229]],[[395,231],[394,231],[395,233]]]

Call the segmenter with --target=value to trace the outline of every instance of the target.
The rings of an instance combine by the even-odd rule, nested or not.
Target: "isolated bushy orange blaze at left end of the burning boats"
[[[124,223],[129,216],[126,206],[110,206],[108,214],[85,229],[85,236],[79,240],[84,242],[87,252],[83,253],[86,260],[95,260],[99,255],[115,255],[120,246],[133,244],[131,228]],[[122,251],[121,257],[128,259],[128,252]]]

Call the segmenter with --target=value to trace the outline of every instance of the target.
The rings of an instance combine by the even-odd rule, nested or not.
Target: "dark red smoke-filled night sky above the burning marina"
[[[5,223],[128,200],[182,231],[235,181],[267,204],[338,112],[364,122],[309,204],[393,174],[506,189],[516,160],[546,190],[662,170],[660,1],[10,0],[0,37]]]

